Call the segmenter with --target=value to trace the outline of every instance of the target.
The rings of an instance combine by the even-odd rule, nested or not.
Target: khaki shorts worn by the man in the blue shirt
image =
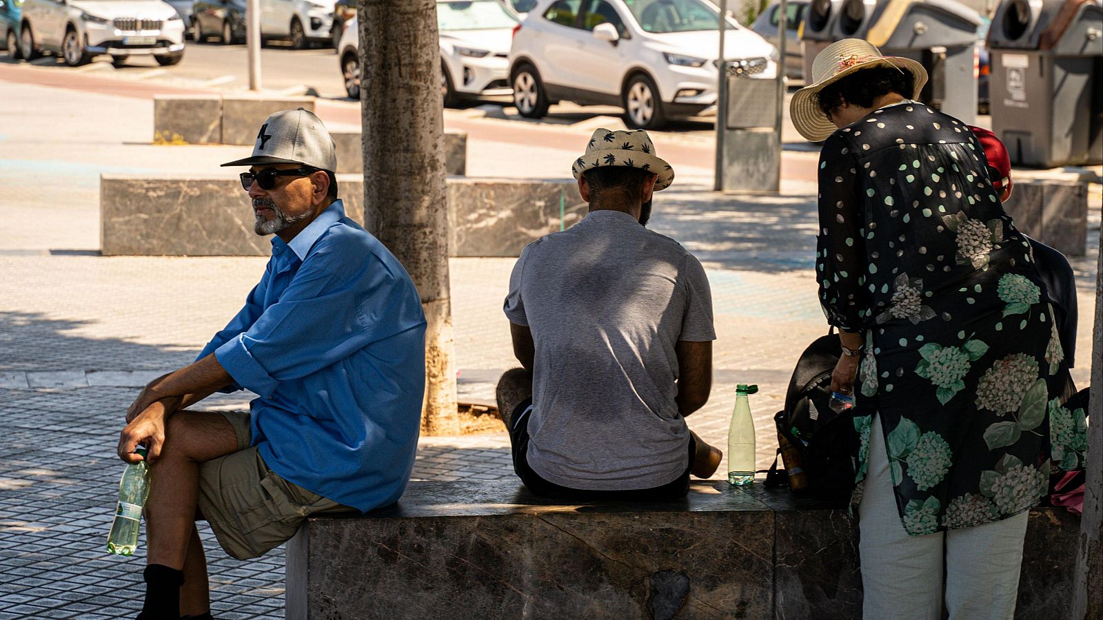
[[[218,413],[234,427],[238,451],[200,466],[199,509],[227,554],[259,557],[295,536],[312,514],[358,512],[277,475],[249,446],[249,414]]]

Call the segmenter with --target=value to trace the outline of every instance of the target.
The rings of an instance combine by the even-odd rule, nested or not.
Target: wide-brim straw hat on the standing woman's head
[[[812,84],[797,90],[789,104],[793,127],[810,141],[826,140],[838,128],[820,109],[820,90],[853,73],[879,66],[911,72],[915,83],[912,99],[919,97],[927,84],[927,70],[918,61],[881,55],[876,45],[863,39],[836,41],[816,54],[812,61]]]

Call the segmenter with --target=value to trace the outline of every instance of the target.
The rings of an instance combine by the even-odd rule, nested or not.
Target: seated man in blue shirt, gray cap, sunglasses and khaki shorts
[[[268,118],[248,165],[257,234],[272,256],[245,307],[196,361],[151,382],[127,411],[119,457],[149,448],[146,603],[139,619],[210,618],[195,521],[246,559],[314,513],[394,503],[414,467],[425,317],[414,282],[336,200],[333,140],[299,108]],[[188,407],[215,392],[250,411]]]

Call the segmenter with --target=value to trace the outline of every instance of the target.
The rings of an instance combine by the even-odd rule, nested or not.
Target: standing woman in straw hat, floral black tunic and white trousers
[[[855,391],[866,618],[1011,618],[1062,357],[1026,238],[919,63],[821,52],[791,116],[820,161],[816,277]]]

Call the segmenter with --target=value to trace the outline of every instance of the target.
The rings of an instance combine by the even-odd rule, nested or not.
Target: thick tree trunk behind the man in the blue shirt
[[[364,224],[421,296],[421,431],[458,435],[436,0],[361,0]]]

